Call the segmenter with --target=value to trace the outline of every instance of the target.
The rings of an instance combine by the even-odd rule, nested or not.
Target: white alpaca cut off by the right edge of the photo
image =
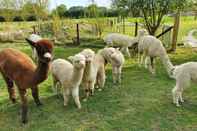
[[[189,87],[191,82],[197,82],[197,62],[187,62],[176,66],[173,77],[176,79],[176,86],[172,89],[173,103],[180,106],[179,102],[184,102],[183,90]]]

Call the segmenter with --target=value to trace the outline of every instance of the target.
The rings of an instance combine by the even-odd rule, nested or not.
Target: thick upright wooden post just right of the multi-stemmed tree
[[[180,11],[178,10],[175,18],[174,18],[174,29],[173,29],[173,36],[172,36],[172,48],[171,51],[176,51],[176,44],[179,32],[179,23],[180,23]]]

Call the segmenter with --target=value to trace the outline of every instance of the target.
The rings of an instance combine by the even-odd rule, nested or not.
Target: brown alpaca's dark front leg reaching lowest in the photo
[[[20,93],[20,98],[22,101],[22,123],[27,123],[27,92],[25,89],[19,89],[19,93]]]

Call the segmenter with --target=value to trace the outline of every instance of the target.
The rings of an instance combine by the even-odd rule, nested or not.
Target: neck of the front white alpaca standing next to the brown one
[[[74,67],[73,75],[72,75],[72,83],[79,85],[81,83],[82,78],[83,78],[83,72],[84,72],[83,68],[78,69],[78,68]]]

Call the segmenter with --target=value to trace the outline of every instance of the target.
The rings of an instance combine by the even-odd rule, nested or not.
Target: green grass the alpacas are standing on
[[[80,47],[55,47],[55,58],[67,58],[87,47],[95,51],[102,47],[102,42],[97,40],[92,44],[93,41],[84,40]],[[5,47],[31,54],[25,43],[0,44],[0,49]],[[181,64],[196,61],[197,54],[191,49],[179,48],[170,58],[174,64]],[[159,61],[156,76],[152,76],[137,66],[136,59],[127,59],[121,85],[112,84],[111,67],[108,66],[104,91],[96,91],[89,101],[82,102],[81,110],[72,99],[68,107],[63,106],[63,99],[52,92],[49,76],[39,88],[42,107],[36,107],[29,92],[29,123],[25,126],[20,123],[20,100],[17,104],[9,101],[1,77],[0,85],[0,131],[197,130],[197,88],[195,85],[188,88],[184,92],[186,102],[180,108],[175,107],[171,98],[175,81],[168,78]]]

